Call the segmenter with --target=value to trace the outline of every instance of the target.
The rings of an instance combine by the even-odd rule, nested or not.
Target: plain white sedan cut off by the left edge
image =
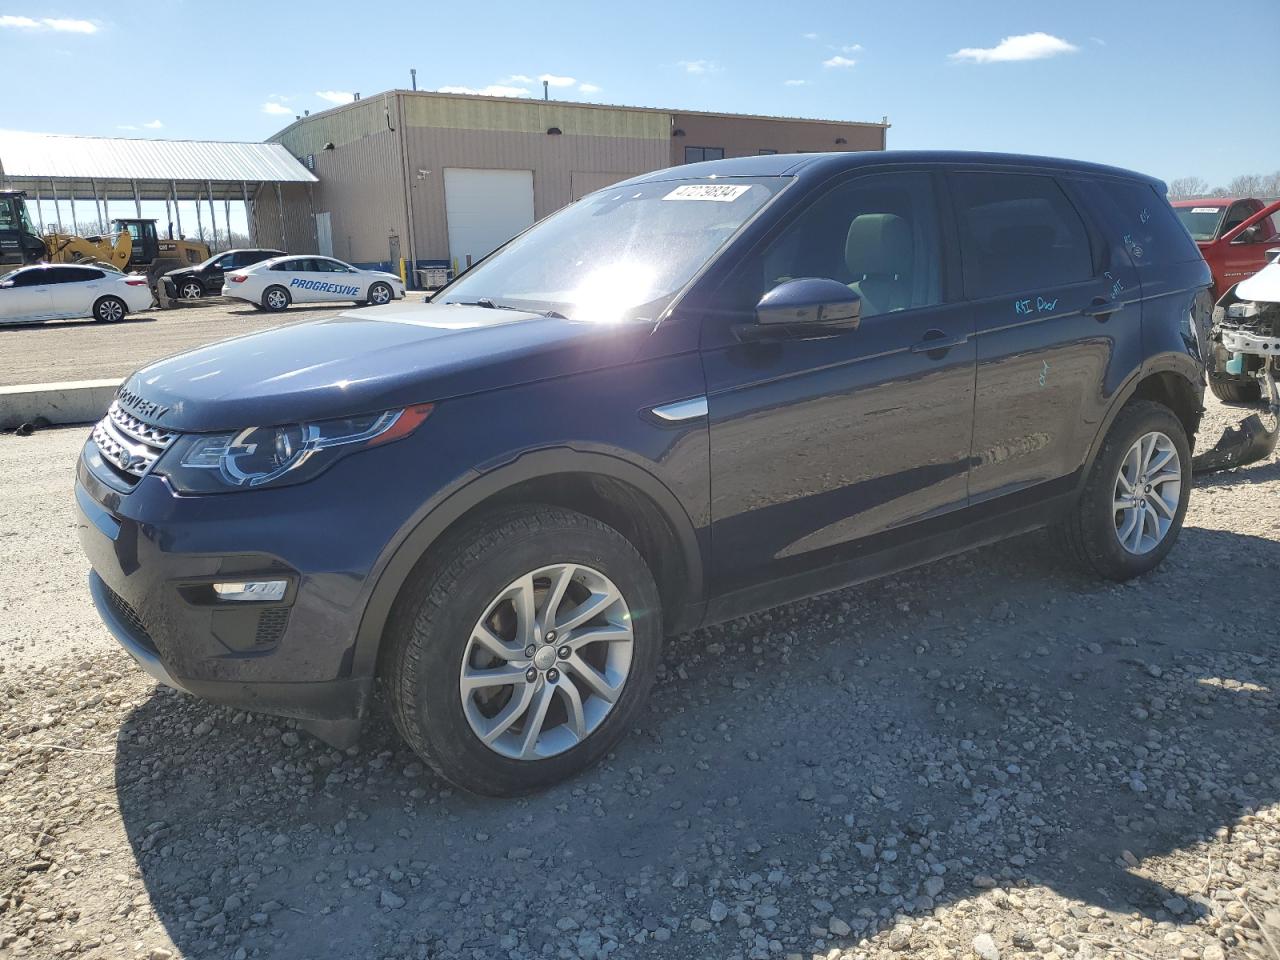
[[[36,264],[0,276],[0,324],[78,316],[113,324],[150,306],[146,276],[109,266]]]

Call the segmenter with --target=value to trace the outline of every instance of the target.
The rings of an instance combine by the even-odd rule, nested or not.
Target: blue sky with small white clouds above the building
[[[558,99],[887,114],[891,148],[1051,154],[1212,183],[1280,168],[1277,0],[4,1],[0,61],[23,93],[0,115],[12,129],[261,140],[303,109],[407,87],[416,67],[426,90],[541,96],[549,76]]]

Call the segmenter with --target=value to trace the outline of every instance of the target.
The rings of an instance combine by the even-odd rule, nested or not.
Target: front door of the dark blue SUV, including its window
[[[860,326],[735,335],[801,276],[849,284]],[[965,506],[973,324],[943,280],[933,175],[902,172],[812,198],[724,283],[703,333],[716,594],[856,559]]]

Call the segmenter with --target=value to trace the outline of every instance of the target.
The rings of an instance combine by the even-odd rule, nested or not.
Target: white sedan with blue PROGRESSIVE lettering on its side
[[[396,274],[360,270],[333,257],[288,256],[228,274],[223,296],[264,310],[334,300],[380,305],[403,298],[404,282]]]

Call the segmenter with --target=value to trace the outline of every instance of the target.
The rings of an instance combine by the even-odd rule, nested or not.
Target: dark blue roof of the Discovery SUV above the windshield
[[[1092,164],[1083,160],[1062,160],[1051,156],[1030,154],[986,154],[964,150],[867,150],[841,154],[769,154],[765,156],[739,156],[728,160],[704,160],[696,164],[671,166],[649,174],[635,177],[627,183],[646,183],[655,180],[686,179],[689,177],[826,177],[841,170],[881,164],[938,164],[938,165],[982,165],[1010,168],[1051,168],[1062,172],[1105,174],[1125,179],[1158,184],[1164,183],[1134,170],[1125,170],[1106,164]]]

